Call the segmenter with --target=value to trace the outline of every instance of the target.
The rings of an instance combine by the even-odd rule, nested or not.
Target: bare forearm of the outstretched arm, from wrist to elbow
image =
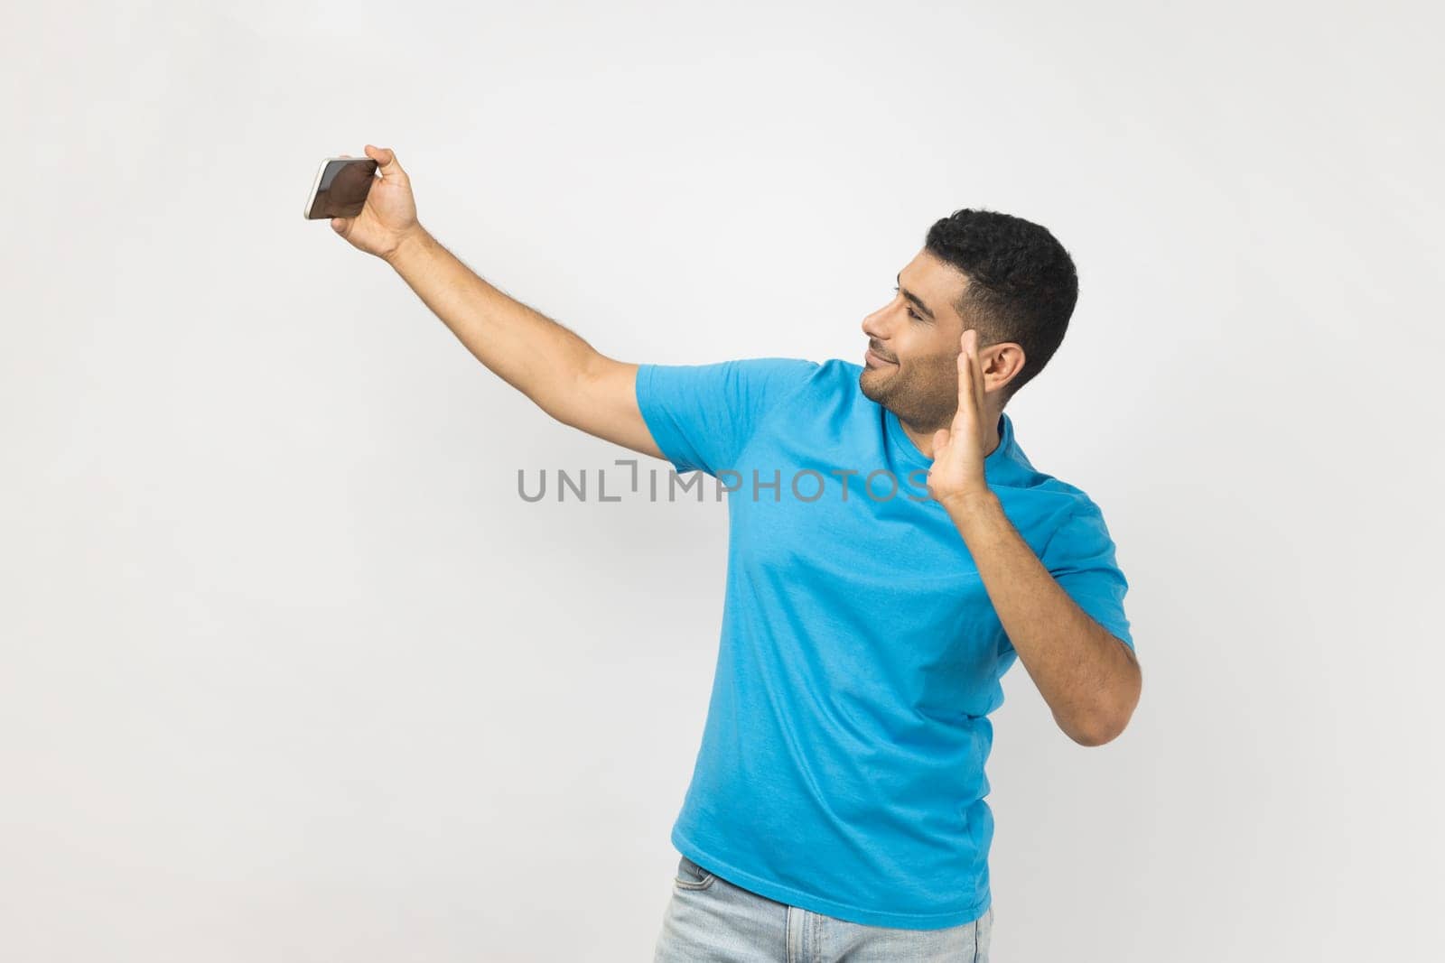
[[[590,344],[488,284],[420,225],[386,261],[477,361],[552,417],[571,417],[577,380],[597,354]]]

